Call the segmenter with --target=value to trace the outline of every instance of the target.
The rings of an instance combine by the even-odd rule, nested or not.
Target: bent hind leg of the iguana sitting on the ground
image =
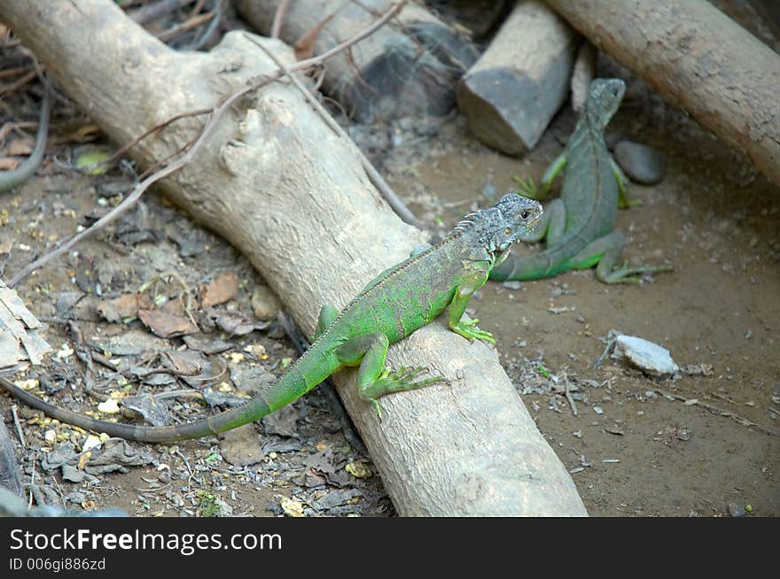
[[[674,269],[672,266],[627,267],[625,263],[616,268],[625,245],[625,235],[620,231],[613,231],[611,234],[590,243],[574,256],[572,267],[574,269],[588,269],[596,266],[596,277],[599,282],[604,283],[638,283],[642,280],[641,274],[655,274]]]

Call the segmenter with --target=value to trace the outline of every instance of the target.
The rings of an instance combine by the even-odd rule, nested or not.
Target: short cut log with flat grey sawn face
[[[566,101],[580,39],[542,0],[518,2],[458,86],[474,135],[509,155],[533,149]]]

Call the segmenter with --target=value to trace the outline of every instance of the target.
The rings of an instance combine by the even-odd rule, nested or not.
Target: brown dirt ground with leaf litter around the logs
[[[605,64],[601,72],[615,67]],[[669,263],[674,271],[641,285],[606,286],[592,270],[490,282],[472,309],[480,326],[495,333],[503,366],[591,515],[728,516],[744,509],[747,516],[780,515],[780,187],[644,84],[628,80],[609,131],[662,151],[667,176],[652,187],[631,186],[630,196],[643,203],[621,211],[618,228],[630,239],[630,263]],[[30,102],[14,104],[20,116],[35,118]],[[487,205],[485,193],[511,189],[514,175],[538,180],[575,120],[568,108],[560,112],[524,159],[480,145],[458,116],[352,131],[436,238],[464,212]],[[55,110],[54,121],[53,134],[63,135],[69,120]],[[0,276],[11,277],[51,243],[89,225],[127,190],[121,170],[84,176],[62,161],[73,156],[72,143],[51,146],[35,178],[0,197],[0,248],[6,248]],[[202,287],[224,273],[238,277],[235,296],[211,310],[199,305]],[[166,367],[167,351],[199,351],[180,337],[152,341],[148,325],[133,316],[111,323],[98,313],[98,305],[144,284],[153,298],[195,300],[191,314],[213,346],[200,350],[196,386],[170,372],[162,375],[171,380],[157,383],[125,370]],[[20,297],[47,324],[44,336],[55,355],[16,378],[37,378],[35,392],[93,413],[111,392],[124,397],[207,384],[238,394],[251,382],[242,372],[278,375],[298,355],[276,320],[243,336],[220,329],[220,316],[229,313],[251,323],[263,308],[273,313],[273,299],[256,289],[261,284],[227,243],[148,194],[120,224],[20,284]],[[609,358],[594,369],[610,329],[661,344],[681,367],[701,374],[650,378]],[[144,351],[117,353],[109,338],[130,331]],[[228,349],[209,353],[222,339]],[[110,359],[128,360],[121,372],[98,361],[112,351]],[[85,360],[92,366],[88,380]],[[165,399],[173,420],[211,412],[194,398]],[[250,426],[221,442],[130,444],[124,462],[109,461],[81,482],[63,480],[63,469],[46,459],[68,443],[68,456],[82,459],[86,433],[20,406],[21,448],[12,404],[0,397],[0,413],[17,444],[23,481],[41,502],[118,506],[141,516],[394,514],[370,459],[344,426],[343,410],[323,387],[264,420],[257,432]],[[111,465],[118,470],[108,472]]]

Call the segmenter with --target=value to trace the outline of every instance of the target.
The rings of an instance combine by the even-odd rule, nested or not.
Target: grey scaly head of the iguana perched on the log
[[[542,204],[517,193],[507,193],[487,209],[466,215],[455,232],[468,235],[470,259],[495,261],[497,265],[508,254],[512,243],[519,241],[542,219]]]

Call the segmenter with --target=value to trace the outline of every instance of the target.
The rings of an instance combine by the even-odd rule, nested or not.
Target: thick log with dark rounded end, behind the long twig
[[[269,35],[282,0],[235,0],[242,16]],[[367,27],[392,5],[389,0],[307,0],[287,7],[280,38],[308,40],[322,54]],[[323,90],[359,122],[447,114],[455,88],[479,53],[463,35],[417,4],[351,50],[325,65]]]

